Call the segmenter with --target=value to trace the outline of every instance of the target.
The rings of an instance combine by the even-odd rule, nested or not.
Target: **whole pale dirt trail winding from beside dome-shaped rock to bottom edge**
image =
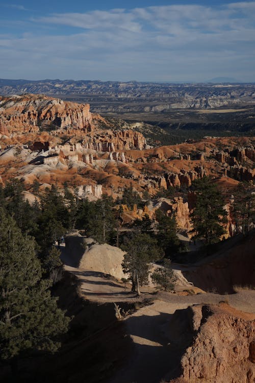
[[[61,250],[65,270],[79,278],[84,298],[100,303],[137,301],[137,297],[124,291],[123,284],[103,274],[73,267],[65,247],[61,246]],[[146,287],[145,291],[148,297],[153,297],[149,294],[152,289]],[[144,306],[124,320],[126,336],[130,336],[134,344],[133,352],[122,369],[107,383],[159,383],[161,379],[174,375],[184,351],[178,345],[169,344],[169,321],[176,309],[198,303],[227,301],[239,310],[255,312],[255,291],[240,291],[233,295],[207,293],[189,296],[160,292],[154,297],[157,298],[154,303]]]

